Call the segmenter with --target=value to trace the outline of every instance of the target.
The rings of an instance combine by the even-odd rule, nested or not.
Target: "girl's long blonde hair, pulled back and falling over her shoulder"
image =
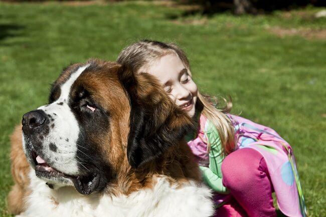
[[[149,40],[136,42],[120,52],[117,62],[135,72],[139,72],[141,67],[150,66],[157,59],[171,53],[176,53],[180,57],[190,76],[192,76],[189,60],[185,52],[172,43],[168,44]],[[226,115],[232,109],[232,101],[231,99],[227,101],[225,98],[223,100],[226,103],[225,107],[216,108],[213,105],[214,103],[218,106],[216,98],[204,96],[198,91],[196,109],[200,109],[202,114],[215,125],[221,139],[222,153],[227,155],[235,148],[235,132],[230,119]],[[210,144],[208,147],[210,147]]]

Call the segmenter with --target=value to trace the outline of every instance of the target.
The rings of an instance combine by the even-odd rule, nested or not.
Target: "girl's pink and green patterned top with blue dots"
[[[235,115],[228,117],[235,129],[235,150],[253,148],[264,156],[280,210],[287,216],[305,217],[306,209],[291,146],[269,127]],[[216,191],[214,199],[217,205],[223,204],[230,194],[222,184],[221,141],[215,126],[204,115],[199,118],[197,137],[188,145],[196,156],[204,180]]]

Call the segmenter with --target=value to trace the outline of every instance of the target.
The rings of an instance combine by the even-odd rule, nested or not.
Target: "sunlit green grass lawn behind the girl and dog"
[[[126,45],[148,38],[179,44],[202,92],[231,95],[233,113],[292,144],[310,216],[326,216],[326,41],[270,32],[320,31],[326,19],[314,19],[315,8],[209,18],[182,17],[183,10],[0,3],[0,215],[10,216],[9,136],[22,115],[47,102],[48,86],[64,66],[90,57],[115,60]]]

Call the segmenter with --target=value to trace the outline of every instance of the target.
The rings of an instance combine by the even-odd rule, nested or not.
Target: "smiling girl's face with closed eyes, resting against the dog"
[[[191,117],[195,115],[197,85],[177,54],[168,54],[140,71],[156,76],[170,98]]]

